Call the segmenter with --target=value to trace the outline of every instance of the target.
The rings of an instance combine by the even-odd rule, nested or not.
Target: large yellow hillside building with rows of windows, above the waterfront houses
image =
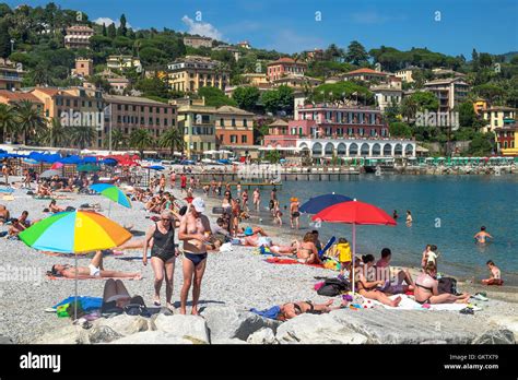
[[[229,83],[231,72],[219,61],[207,57],[187,56],[167,66],[169,87],[174,91],[196,93],[204,86],[225,91]]]

